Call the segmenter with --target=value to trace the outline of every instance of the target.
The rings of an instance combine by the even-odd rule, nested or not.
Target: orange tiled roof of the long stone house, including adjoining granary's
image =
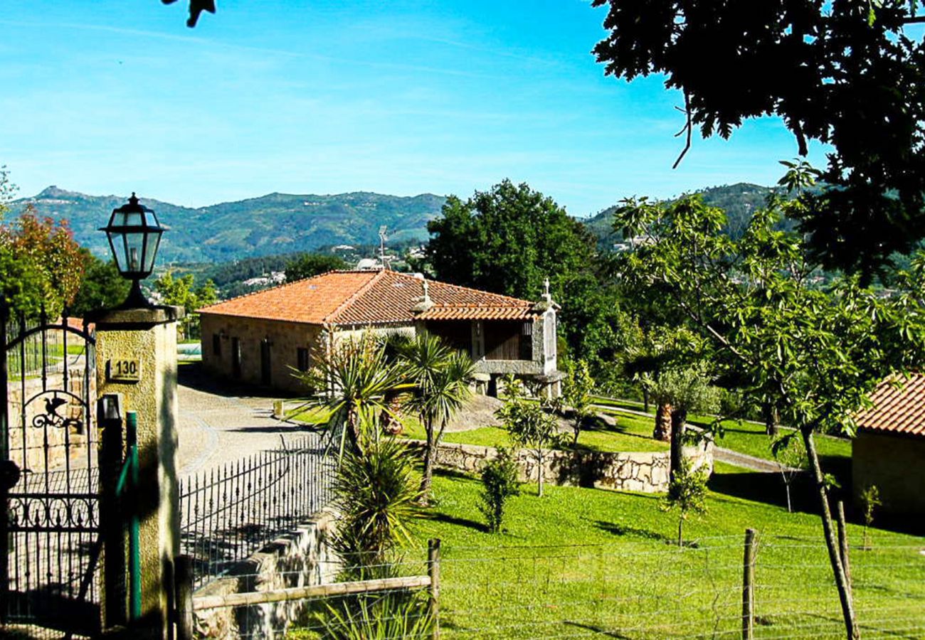
[[[202,314],[283,320],[311,325],[377,325],[423,320],[518,320],[534,303],[498,293],[427,280],[433,306],[415,313],[424,283],[395,271],[330,271],[200,309]]]

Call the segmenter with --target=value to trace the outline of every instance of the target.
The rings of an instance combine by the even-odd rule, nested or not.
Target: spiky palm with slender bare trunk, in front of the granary
[[[427,444],[421,499],[430,500],[437,446],[447,423],[472,397],[469,382],[474,364],[462,351],[453,351],[437,336],[421,333],[400,346],[402,369],[413,382],[414,391],[407,406],[424,425]]]

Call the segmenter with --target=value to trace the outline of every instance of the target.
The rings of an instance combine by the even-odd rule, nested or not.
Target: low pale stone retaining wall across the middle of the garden
[[[423,443],[417,441],[417,446]],[[695,469],[706,465],[713,472],[713,443],[705,439],[696,447],[685,447],[685,456]],[[437,465],[467,473],[477,473],[485,461],[498,455],[498,449],[477,445],[440,444]],[[521,482],[536,482],[536,456],[529,449],[516,452]],[[609,452],[558,451],[545,455],[546,482],[567,486],[594,486],[621,491],[661,493],[668,490],[671,453],[665,451]]]

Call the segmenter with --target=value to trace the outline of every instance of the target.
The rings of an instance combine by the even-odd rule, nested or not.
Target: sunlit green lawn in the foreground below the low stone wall
[[[660,511],[657,496],[549,486],[537,498],[535,486],[524,486],[506,530],[492,535],[477,509],[480,484],[438,474],[438,503],[413,523],[415,548],[402,571],[422,572],[425,540],[442,540],[447,638],[737,637],[742,538],[753,527],[756,637],[844,637],[819,519],[779,506],[775,479],[718,464],[708,513],[686,526],[696,546],[679,549],[677,519]],[[771,503],[755,499],[765,497]],[[861,528],[848,529],[864,637],[921,637],[925,543],[876,530],[864,551]]]

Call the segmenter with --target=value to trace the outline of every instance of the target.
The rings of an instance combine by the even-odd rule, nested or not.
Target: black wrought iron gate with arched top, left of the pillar
[[[0,301],[0,635],[100,629],[95,338]]]

